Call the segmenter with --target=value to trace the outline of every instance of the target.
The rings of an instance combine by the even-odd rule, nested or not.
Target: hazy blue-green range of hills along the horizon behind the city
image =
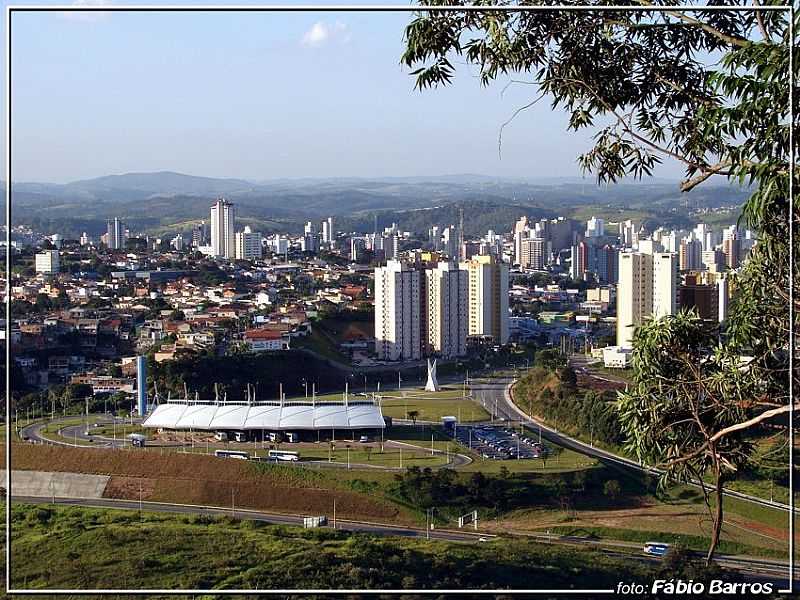
[[[4,186],[3,186],[4,187]],[[21,182],[13,189],[15,222],[67,235],[96,233],[106,219],[121,217],[136,231],[175,231],[208,219],[214,198],[224,195],[238,214],[271,230],[297,231],[306,220],[334,216],[348,229],[372,231],[379,221],[424,231],[455,222],[465,207],[468,231],[505,231],[530,217],[583,215],[592,207],[643,211],[672,222],[688,218],[676,182],[644,180],[598,186],[592,180],[443,175],[438,177],[341,177],[247,181],[198,177],[170,171],[108,175],[67,184]],[[741,205],[748,191],[724,182],[699,186],[688,195],[693,208]],[[450,207],[450,208],[448,208]],[[424,211],[415,213],[414,211]],[[425,212],[428,211],[428,212]],[[516,215],[516,217],[514,216]],[[388,224],[387,223],[387,224]],[[380,223],[379,223],[380,224]]]

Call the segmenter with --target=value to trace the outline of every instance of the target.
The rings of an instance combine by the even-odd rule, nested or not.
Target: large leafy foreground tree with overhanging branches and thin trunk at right
[[[402,61],[416,67],[420,90],[449,84],[458,57],[478,69],[484,85],[531,85],[531,101],[519,111],[547,96],[566,111],[569,129],[592,130],[594,144],[578,162],[601,182],[646,176],[671,159],[684,166],[683,192],[714,176],[753,190],[741,220],[758,242],[732,277],[726,330],[708,330],[687,314],[645,325],[634,339],[635,384],[619,401],[631,450],[665,465],[667,477],[712,472],[721,500],[725,478],[750,455],[742,432],[790,402],[787,314],[800,308],[789,295],[796,250],[789,221],[798,217],[790,178],[795,187],[800,179],[789,168],[796,152],[789,147],[790,28],[797,21],[786,10],[764,10],[774,0],[738,11],[677,11],[664,0],[580,12],[492,9],[547,4],[538,0],[447,4],[469,9],[421,11],[406,29]],[[800,53],[791,51],[798,64]],[[797,89],[791,93],[796,105]],[[740,362],[743,354],[752,360]],[[716,505],[709,557],[722,521],[722,502]]]

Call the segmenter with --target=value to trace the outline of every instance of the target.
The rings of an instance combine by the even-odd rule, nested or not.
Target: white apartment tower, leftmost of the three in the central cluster
[[[379,360],[422,356],[422,273],[397,260],[375,268],[375,353]]]

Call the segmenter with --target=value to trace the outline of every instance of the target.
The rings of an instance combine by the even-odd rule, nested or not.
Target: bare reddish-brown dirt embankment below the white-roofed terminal
[[[0,460],[5,457],[0,452]],[[154,502],[231,506],[293,514],[328,514],[336,500],[342,518],[402,520],[396,506],[375,495],[341,489],[324,473],[258,468],[213,456],[14,444],[12,468],[111,475],[105,496]]]

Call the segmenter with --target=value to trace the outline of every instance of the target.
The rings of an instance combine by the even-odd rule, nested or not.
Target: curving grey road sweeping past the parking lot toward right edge
[[[513,377],[498,377],[490,380],[488,383],[474,383],[472,386],[472,393],[473,396],[475,396],[476,401],[485,406],[489,413],[493,413],[496,418],[506,419],[509,421],[522,421],[522,423],[533,429],[538,428],[542,433],[542,438],[554,444],[564,448],[569,448],[570,450],[580,452],[581,454],[585,454],[587,456],[591,456],[604,464],[615,466],[617,468],[630,469],[631,471],[637,473],[647,473],[656,477],[662,474],[662,471],[659,469],[641,465],[634,460],[630,460],[629,458],[601,450],[600,448],[595,448],[590,444],[560,433],[557,429],[545,425],[536,419],[530,418],[511,401],[510,388],[513,382]],[[697,482],[692,485],[698,488],[700,487],[699,483]],[[713,489],[713,487],[711,489]],[[780,502],[773,502],[765,498],[751,496],[750,494],[743,494],[734,490],[725,490],[724,493],[729,498],[737,498],[739,500],[745,500],[747,502],[752,502],[768,508],[774,508],[786,512],[789,511],[789,506]],[[795,507],[794,512],[795,514],[800,514],[800,508]]]

